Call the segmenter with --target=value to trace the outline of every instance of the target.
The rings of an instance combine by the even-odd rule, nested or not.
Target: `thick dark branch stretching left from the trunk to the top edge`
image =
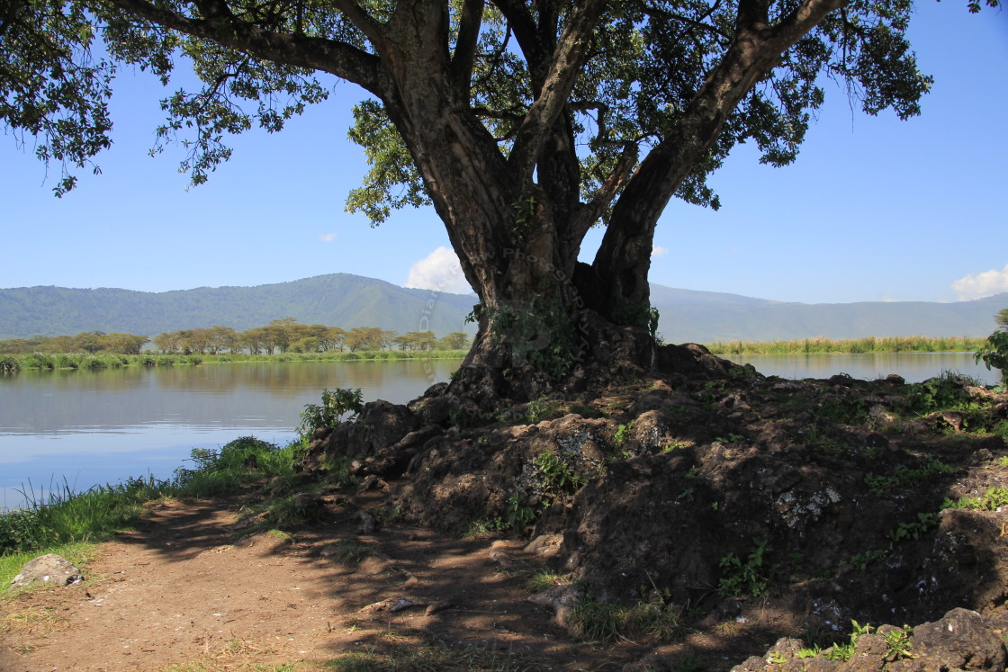
[[[265,30],[223,15],[218,19],[194,19],[146,0],[105,1],[164,28],[213,40],[257,58],[330,73],[376,95],[379,91],[378,58],[346,42]],[[213,5],[223,3],[215,0],[206,4],[209,9],[220,11]]]

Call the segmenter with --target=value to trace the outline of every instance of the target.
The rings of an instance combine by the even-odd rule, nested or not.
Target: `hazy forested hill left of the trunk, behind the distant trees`
[[[444,335],[474,330],[465,323],[474,303],[472,295],[406,289],[346,273],[257,287],[157,293],[18,287],[0,289],[0,340],[82,331],[153,335],[214,324],[243,330],[284,317],[304,324],[378,326],[400,333],[431,330]]]

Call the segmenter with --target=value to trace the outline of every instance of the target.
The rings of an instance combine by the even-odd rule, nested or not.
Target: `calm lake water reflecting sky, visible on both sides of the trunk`
[[[946,370],[999,380],[973,356],[955,354],[735,356],[765,375],[919,382]],[[0,507],[130,477],[171,476],[196,447],[239,436],[285,444],[322,390],[361,388],[365,400],[404,403],[447,381],[459,360],[215,364],[0,377]]]

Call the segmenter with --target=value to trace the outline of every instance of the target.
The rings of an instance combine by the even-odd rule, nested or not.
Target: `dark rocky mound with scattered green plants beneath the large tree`
[[[526,535],[582,606],[646,607],[681,630],[735,624],[747,646],[801,637],[817,653],[853,622],[956,609],[1003,632],[1008,396],[956,376],[765,378],[695,346],[657,365],[517,406],[493,380],[470,385],[482,397],[436,386],[408,407],[376,402],[319,432],[304,465],[390,483],[388,516]],[[599,610],[564,618],[586,613]],[[890,633],[873,632],[862,649]],[[834,669],[788,658],[796,646],[759,660]],[[1001,669],[887,655],[885,669]]]

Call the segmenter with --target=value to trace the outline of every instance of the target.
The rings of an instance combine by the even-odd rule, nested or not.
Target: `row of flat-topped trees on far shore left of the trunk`
[[[377,326],[355,326],[344,329],[324,324],[299,324],[293,317],[274,319],[265,326],[239,331],[231,326],[210,326],[158,333],[151,341],[146,335],[87,331],[76,337],[44,337],[0,341],[0,353],[119,353],[137,355],[151,343],[164,354],[219,355],[249,353],[365,352],[375,350],[465,350],[470,337],[453,331],[440,339],[433,331],[407,331],[399,335]]]

